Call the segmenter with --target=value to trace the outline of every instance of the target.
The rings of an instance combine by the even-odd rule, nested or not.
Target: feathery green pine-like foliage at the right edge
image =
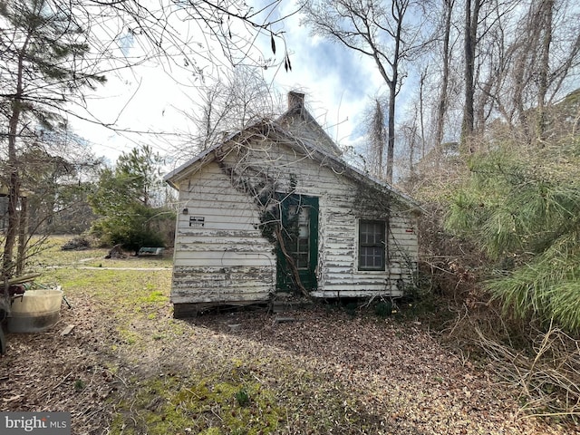
[[[505,314],[580,330],[578,140],[527,154],[502,146],[470,158],[446,226],[491,260],[486,288]]]

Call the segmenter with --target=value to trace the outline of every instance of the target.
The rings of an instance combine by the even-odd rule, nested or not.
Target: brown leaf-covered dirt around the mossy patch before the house
[[[417,322],[324,307],[175,320],[164,302],[130,320],[128,335],[119,333],[114,307],[82,295],[72,302],[45,333],[7,334],[1,411],[70,411],[74,434],[124,433],[131,419],[137,429],[127,433],[147,433],[136,421],[142,380],[241,366],[285,406],[270,433],[580,433],[564,422],[528,418],[515,391]],[[73,331],[63,335],[69,324]],[[126,416],[119,429],[113,420],[130,398],[124,412],[135,417]]]

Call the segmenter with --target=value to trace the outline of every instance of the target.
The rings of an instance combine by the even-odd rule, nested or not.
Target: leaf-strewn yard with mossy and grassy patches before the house
[[[580,433],[527,418],[425,324],[324,306],[176,320],[169,270],[52,273],[73,308],[8,334],[0,410],[70,411],[74,434]]]

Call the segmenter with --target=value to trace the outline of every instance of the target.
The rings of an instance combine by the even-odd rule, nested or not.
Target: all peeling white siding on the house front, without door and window
[[[345,175],[336,161],[271,140],[221,150],[179,181],[180,209],[171,301],[174,304],[264,301],[275,291],[275,247],[260,229],[254,193],[271,189],[319,198],[316,297],[402,295],[414,284],[417,222],[404,201]],[[190,227],[189,218],[204,218]],[[388,264],[358,270],[360,219],[387,219]]]

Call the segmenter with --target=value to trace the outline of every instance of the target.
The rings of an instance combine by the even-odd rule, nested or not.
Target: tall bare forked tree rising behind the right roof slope
[[[339,0],[302,3],[305,22],[314,34],[370,57],[389,90],[387,164],[385,179],[392,182],[395,145],[395,106],[405,75],[404,63],[411,61],[426,44],[422,34],[425,2],[411,0]]]

